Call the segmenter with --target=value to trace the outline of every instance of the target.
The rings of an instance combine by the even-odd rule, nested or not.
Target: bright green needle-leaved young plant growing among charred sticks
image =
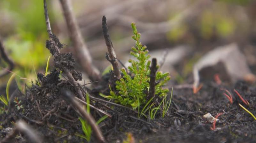
[[[131,66],[128,67],[129,74],[125,69],[121,69],[121,73],[123,77],[116,81],[116,89],[118,93],[113,91],[110,92],[112,99],[116,103],[120,103],[124,106],[131,106],[134,110],[137,109],[140,112],[140,107],[144,106],[142,110],[142,114],[147,111],[149,108],[146,106],[151,106],[151,111],[155,115],[155,112],[160,108],[154,108],[150,102],[152,99],[147,99],[147,95],[149,92],[149,81],[150,81],[150,64],[149,60],[150,55],[148,54],[148,50],[146,46],[143,46],[140,42],[140,33],[136,29],[135,23],[131,24],[133,29],[132,38],[136,41],[136,46],[131,48],[130,55],[136,58],[136,60],[129,59],[128,62],[131,63]],[[157,66],[158,68],[159,66]],[[156,97],[164,98],[167,96],[169,92],[168,89],[163,89],[162,86],[170,80],[169,73],[156,73],[156,84],[155,86],[155,95]],[[157,105],[158,106],[158,105]],[[139,117],[141,117],[141,115]]]

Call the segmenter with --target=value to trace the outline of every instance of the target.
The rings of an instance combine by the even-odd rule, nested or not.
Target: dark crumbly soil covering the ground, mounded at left
[[[58,47],[62,44],[58,38],[53,38]],[[56,50],[50,41],[46,47],[54,55]],[[74,58],[71,53],[55,55],[53,68],[48,75],[38,74],[38,81],[32,87],[27,88],[24,95],[19,95],[23,106],[18,110],[11,106],[8,112],[0,117],[0,138],[4,138],[14,127],[19,119],[25,120],[35,129],[43,142],[86,142],[75,135],[83,134],[79,114],[70,106],[69,102],[62,97],[62,90],[69,90],[76,95],[72,84],[66,80],[66,75],[60,70],[67,68],[71,71],[75,80],[81,80],[81,73],[74,70]],[[62,77],[62,78],[60,78]],[[94,85],[92,90],[86,89],[90,95],[101,98],[98,93],[109,94],[109,86],[114,89],[114,79],[111,74],[103,77],[103,80]],[[234,102],[223,95],[222,88],[229,90]],[[246,106],[237,94],[236,89],[250,105]],[[132,133],[136,142],[164,143],[164,142],[256,142],[255,120],[245,112],[238,103],[245,106],[255,115],[256,109],[256,87],[238,81],[235,85],[222,83],[217,85],[210,79],[204,81],[202,89],[193,94],[191,89],[175,89],[172,104],[164,118],[160,114],[156,119],[138,119],[136,111],[113,106],[100,101],[91,101],[91,104],[102,109],[112,118],[105,119],[99,124],[107,142],[122,142],[127,139],[127,133]],[[85,93],[84,93],[85,95]],[[104,106],[103,106],[104,104]],[[105,106],[111,107],[105,108]],[[211,130],[212,123],[208,123],[203,115],[211,113],[216,116],[223,112],[218,119],[216,129]],[[91,109],[92,116],[98,120],[103,114]],[[11,142],[31,142],[26,136],[19,134]],[[91,142],[97,142],[92,136]]]

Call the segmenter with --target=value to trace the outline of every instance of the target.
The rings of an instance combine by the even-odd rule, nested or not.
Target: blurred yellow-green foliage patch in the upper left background
[[[33,69],[33,64],[36,69],[45,66],[50,53],[45,49],[43,0],[1,1],[0,8],[13,16],[14,34],[6,37],[4,44],[15,63],[24,68],[19,70]]]

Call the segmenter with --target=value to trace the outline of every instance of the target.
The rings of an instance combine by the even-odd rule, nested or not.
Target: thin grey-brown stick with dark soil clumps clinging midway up
[[[51,32],[51,27],[50,27],[50,20],[49,20],[49,15],[48,15],[48,10],[47,10],[47,4],[46,4],[46,0],[43,0],[44,3],[44,15],[45,15],[45,21],[46,21],[46,27],[47,27],[47,32],[50,38],[51,43],[53,44],[56,53],[53,54],[54,57],[58,56],[60,54],[59,48],[57,43],[54,41],[53,37],[52,37],[52,32]],[[70,71],[66,68],[61,69],[67,76],[67,78],[69,79],[69,82],[71,84],[73,84],[73,86],[75,87],[75,91],[77,92],[77,94],[80,96],[80,98],[85,101],[85,98],[83,97],[83,94],[80,90],[80,88],[77,85],[77,82],[75,81],[75,79],[73,78],[72,74],[70,73]]]

